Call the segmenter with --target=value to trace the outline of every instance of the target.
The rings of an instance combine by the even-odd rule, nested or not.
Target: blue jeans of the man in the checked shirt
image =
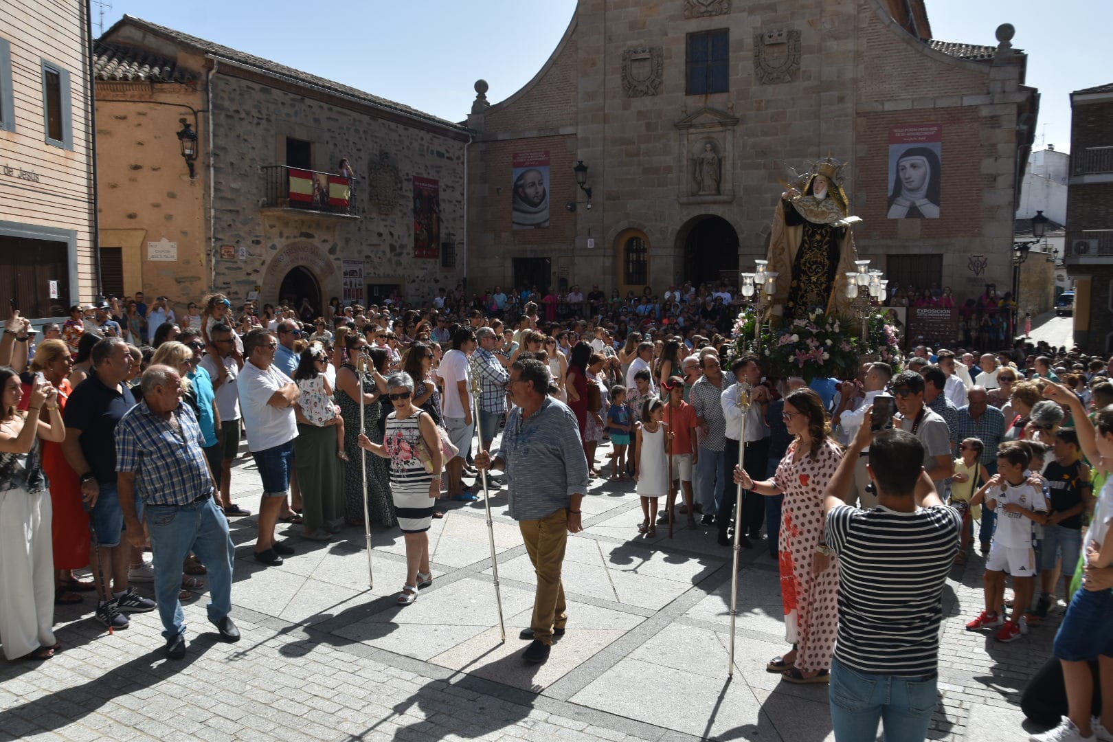
[[[213,497],[193,505],[147,505],[155,600],[162,620],[162,636],[173,642],[185,633],[185,614],[178,601],[181,562],[194,552],[208,568],[209,621],[232,612],[232,563],[236,555],[228,520]]]

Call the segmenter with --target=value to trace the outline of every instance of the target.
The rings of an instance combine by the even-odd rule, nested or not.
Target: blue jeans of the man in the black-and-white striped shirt
[[[939,704],[937,675],[874,675],[850,670],[831,659],[831,726],[836,742],[877,739],[877,722],[885,742],[924,742],[932,712]]]

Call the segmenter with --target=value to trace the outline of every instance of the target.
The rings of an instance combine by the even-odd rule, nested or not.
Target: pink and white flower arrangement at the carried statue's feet
[[[754,311],[747,308],[735,320],[731,344],[733,357],[758,350],[754,343],[755,317]],[[860,323],[846,321],[819,311],[779,327],[764,325],[758,355],[777,376],[802,376],[808,383],[818,376],[854,378],[864,356],[884,360],[895,372],[899,370],[903,357],[895,328],[885,321],[883,315],[870,315],[863,343],[859,337],[860,327]]]

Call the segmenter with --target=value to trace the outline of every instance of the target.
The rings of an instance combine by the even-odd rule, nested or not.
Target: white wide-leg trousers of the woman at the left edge
[[[8,660],[55,644],[50,493],[0,492],[0,641]]]

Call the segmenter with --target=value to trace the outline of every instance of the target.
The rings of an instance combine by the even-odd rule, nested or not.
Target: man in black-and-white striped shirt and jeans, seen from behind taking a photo
[[[958,550],[962,520],[939,499],[923,468],[924,445],[881,431],[870,414],[825,492],[826,544],[838,554],[838,641],[831,661],[831,724],[838,742],[923,740],[937,705],[943,587]],[[878,506],[859,511],[854,465],[869,446]]]

